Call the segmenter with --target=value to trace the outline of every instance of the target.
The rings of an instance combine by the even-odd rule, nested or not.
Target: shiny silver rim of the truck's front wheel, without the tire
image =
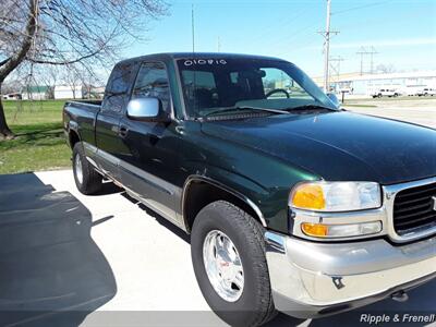
[[[218,295],[228,302],[238,301],[244,289],[244,270],[230,238],[219,230],[210,231],[203,243],[203,262]]]

